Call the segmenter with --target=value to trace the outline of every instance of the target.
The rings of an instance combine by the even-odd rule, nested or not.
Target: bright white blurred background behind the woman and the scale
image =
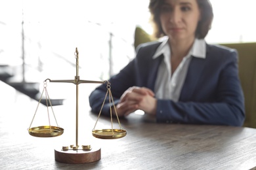
[[[148,2],[1,0],[1,80],[38,99],[46,78],[74,79],[76,47],[80,79],[108,79],[135,57],[135,28],[152,33]],[[208,43],[256,41],[255,0],[211,3],[215,16]],[[85,96],[96,86],[86,86]],[[51,88],[60,99],[74,93],[66,84],[51,84]]]

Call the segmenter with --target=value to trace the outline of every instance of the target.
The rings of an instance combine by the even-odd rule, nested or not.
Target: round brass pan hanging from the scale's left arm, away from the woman
[[[33,137],[57,137],[62,135],[64,129],[56,126],[37,126],[28,129]]]

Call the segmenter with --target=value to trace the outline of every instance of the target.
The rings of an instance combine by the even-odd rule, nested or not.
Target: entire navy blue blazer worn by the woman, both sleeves
[[[132,86],[144,86],[154,92],[160,58],[152,59],[160,42],[147,42],[137,48],[137,56],[117,75],[110,78],[115,103]],[[99,112],[106,95],[106,84],[89,96],[93,112]],[[106,103],[102,114],[109,114]],[[207,44],[206,58],[194,58],[188,67],[178,102],[158,99],[156,120],[182,124],[244,124],[244,94],[238,77],[236,50]]]

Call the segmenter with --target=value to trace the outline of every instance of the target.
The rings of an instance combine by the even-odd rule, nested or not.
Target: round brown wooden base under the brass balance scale
[[[62,163],[91,163],[101,158],[99,147],[93,146],[91,150],[54,150],[55,160]]]

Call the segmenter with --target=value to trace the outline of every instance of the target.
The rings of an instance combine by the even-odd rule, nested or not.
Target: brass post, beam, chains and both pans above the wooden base
[[[79,76],[78,76],[78,68],[79,68],[79,66],[78,66],[78,51],[77,51],[77,48],[75,49],[75,53],[76,53],[75,54],[75,59],[76,59],[76,76],[75,76],[75,80],[50,80],[49,78],[47,78],[44,81],[43,92],[45,92],[45,97],[46,97],[48,118],[49,118],[49,104],[51,106],[52,112],[53,112],[53,107],[52,107],[52,104],[51,104],[51,99],[50,99],[49,94],[47,92],[47,80],[49,80],[50,82],[71,82],[71,83],[76,84],[76,86],[78,86],[78,84],[81,84],[81,83],[101,83],[101,84],[104,84],[105,82],[107,82],[107,89],[108,90],[106,92],[106,96],[105,96],[104,101],[102,103],[102,107],[103,107],[103,105],[104,105],[104,103],[106,101],[106,97],[109,96],[109,101],[110,101],[110,103],[113,104],[114,110],[116,112],[116,107],[114,105],[114,99],[112,97],[112,93],[111,93],[111,90],[110,90],[110,82],[108,82],[108,81],[98,82],[98,81],[89,81],[89,80],[79,80]],[[77,90],[78,90],[78,87],[77,87]],[[40,103],[40,101],[42,99],[43,92],[41,93],[41,97],[39,99],[37,108],[35,110],[35,114],[37,113],[37,109],[38,109],[39,103]],[[78,98],[76,99],[76,102],[78,103]],[[96,127],[96,124],[97,124],[98,119],[100,117],[102,107],[101,107],[100,112],[98,114],[98,118],[96,120],[95,127]],[[54,119],[55,119],[55,122],[56,122],[57,126],[51,126],[51,122],[50,122],[50,118],[49,118],[49,126],[31,127],[32,123],[33,123],[33,120],[35,118],[35,114],[33,115],[32,122],[30,124],[30,127],[28,128],[28,133],[30,135],[32,135],[33,137],[57,137],[57,136],[62,135],[62,133],[64,133],[64,129],[62,127],[58,126],[58,123],[56,121],[56,117],[54,115],[54,112],[53,112],[53,115],[54,115]],[[110,107],[110,118],[111,118],[112,128],[111,129],[95,129],[95,127],[94,127],[93,130],[92,130],[92,134],[93,134],[94,137],[96,137],[98,139],[119,139],[121,137],[125,137],[125,135],[127,134],[127,131],[125,129],[122,129],[121,124],[119,122],[119,118],[117,116],[117,112],[116,112],[116,118],[118,120],[120,129],[114,129],[113,128],[112,108],[111,107]]]

